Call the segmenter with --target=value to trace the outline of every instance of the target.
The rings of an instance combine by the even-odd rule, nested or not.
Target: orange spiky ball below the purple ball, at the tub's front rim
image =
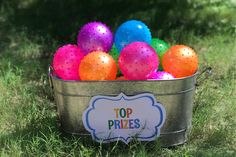
[[[81,80],[115,80],[116,62],[107,53],[93,51],[86,55],[79,66]]]

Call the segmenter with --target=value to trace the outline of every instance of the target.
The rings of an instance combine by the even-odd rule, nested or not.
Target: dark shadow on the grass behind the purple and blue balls
[[[21,4],[12,1],[13,14],[10,23],[16,28],[26,28],[31,33],[42,36],[50,35],[53,39],[70,41],[75,39],[79,28],[94,20],[107,23],[113,30],[128,19],[140,19],[151,28],[166,28],[176,25],[179,20],[168,25],[169,12],[177,8],[187,7],[187,1],[159,1],[152,0],[67,0],[41,1]],[[185,10],[179,10],[184,14]],[[176,24],[174,24],[176,23]],[[155,30],[154,29],[154,30]],[[156,31],[156,30],[155,30]],[[167,31],[165,32],[167,33]],[[156,34],[156,32],[155,32]]]

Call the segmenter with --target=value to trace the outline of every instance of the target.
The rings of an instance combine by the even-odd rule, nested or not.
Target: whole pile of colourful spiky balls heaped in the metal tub
[[[105,24],[90,22],[80,29],[77,45],[56,51],[52,66],[63,80],[168,80],[193,75],[198,57],[188,46],[152,38],[141,21],[123,23],[114,37]]]

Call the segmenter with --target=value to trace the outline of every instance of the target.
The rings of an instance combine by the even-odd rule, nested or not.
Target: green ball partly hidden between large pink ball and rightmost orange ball
[[[151,46],[155,49],[158,57],[159,57],[159,70],[163,70],[162,68],[162,57],[166,53],[166,51],[170,48],[168,43],[158,38],[153,38],[151,42]]]

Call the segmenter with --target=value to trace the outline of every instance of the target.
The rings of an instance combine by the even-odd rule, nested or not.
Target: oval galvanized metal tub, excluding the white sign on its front
[[[49,75],[61,127],[66,133],[89,135],[83,126],[82,114],[93,96],[152,93],[166,110],[166,120],[159,137],[161,145],[170,147],[187,141],[197,73],[174,80],[148,81],[64,81],[51,72]]]

